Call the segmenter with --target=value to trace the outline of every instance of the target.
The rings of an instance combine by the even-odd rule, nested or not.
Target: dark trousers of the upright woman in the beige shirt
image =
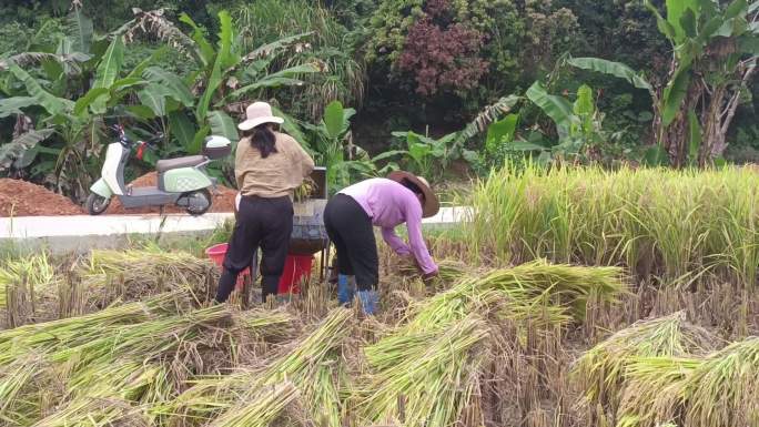
[[[240,201],[224,272],[219,281],[216,301],[229,298],[237,275],[253,263],[253,253],[261,247],[262,301],[276,295],[293,232],[293,203],[290,197],[264,199],[244,196]]]

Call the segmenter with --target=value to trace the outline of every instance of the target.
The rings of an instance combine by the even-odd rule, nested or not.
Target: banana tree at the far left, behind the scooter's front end
[[[51,92],[29,71],[7,60],[7,73],[20,89],[16,96],[0,102],[0,116],[26,114],[34,119],[36,126],[2,146],[0,169],[27,167],[40,156],[38,171],[51,170],[59,189],[67,186],[71,195],[83,197],[99,172],[104,114],[148,83],[135,77],[120,78],[123,53],[124,42],[117,37],[97,59],[92,87],[73,99],[67,98],[67,91],[65,96]],[[58,64],[61,71],[65,62]],[[52,69],[51,64],[47,68]]]

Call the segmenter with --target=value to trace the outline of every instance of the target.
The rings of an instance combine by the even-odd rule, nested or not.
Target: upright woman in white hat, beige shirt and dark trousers
[[[265,102],[245,110],[237,125],[234,176],[240,190],[236,222],[230,240],[216,301],[232,293],[237,275],[247,268],[261,247],[262,301],[276,295],[293,231],[293,191],[314,170],[314,161],[292,136],[274,131],[283,123]]]

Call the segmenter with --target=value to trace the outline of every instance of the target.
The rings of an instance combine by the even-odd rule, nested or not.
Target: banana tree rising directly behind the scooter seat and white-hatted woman
[[[314,64],[277,71],[269,67],[279,54],[307,34],[283,38],[251,52],[242,52],[239,31],[226,11],[219,12],[216,43],[209,40],[205,30],[188,14],[181,14],[180,22],[190,29],[188,33],[169,21],[163,10],[138,9],[135,18],[118,33],[125,34],[128,40],[145,32],[159,37],[194,62],[195,70],[183,82],[172,73],[159,74],[153,70],[146,78],[156,85],[145,88],[141,93],[141,100],[150,106],[153,115],[168,118],[169,130],[189,153],[198,153],[201,141],[210,133],[237,140],[230,113],[244,110],[239,101],[260,95],[267,89],[301,85],[303,82],[296,77],[320,71]],[[171,84],[166,85],[166,82]]]

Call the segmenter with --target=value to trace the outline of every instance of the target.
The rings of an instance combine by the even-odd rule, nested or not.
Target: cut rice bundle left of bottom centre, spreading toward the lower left
[[[350,335],[348,322],[353,312],[345,308],[331,311],[327,317],[296,346],[276,358],[264,369],[249,369],[230,376],[215,376],[199,380],[192,388],[179,396],[175,401],[158,407],[159,413],[179,414],[174,424],[192,425],[194,421],[214,418],[221,410],[221,419],[229,423],[243,423],[249,415],[259,410],[262,387],[283,382],[292,382],[311,411],[314,419],[323,417],[323,411],[340,413],[341,404],[328,387],[335,387],[325,375],[325,366],[336,363],[336,349]],[[235,406],[235,403],[242,404]],[[225,424],[236,426],[237,424]],[[330,424],[338,426],[340,424]]]

